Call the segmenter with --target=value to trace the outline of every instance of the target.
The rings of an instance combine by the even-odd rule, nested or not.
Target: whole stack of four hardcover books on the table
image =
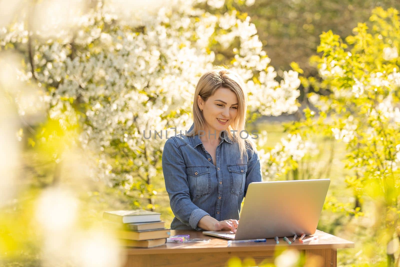
[[[113,231],[126,247],[157,247],[164,245],[170,236],[160,215],[142,209],[104,211],[103,227]]]

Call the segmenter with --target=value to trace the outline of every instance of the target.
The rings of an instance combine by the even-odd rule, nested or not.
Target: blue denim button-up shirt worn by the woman
[[[175,215],[171,229],[201,230],[197,224],[205,215],[239,220],[248,185],[262,181],[257,150],[246,142],[246,152],[248,158],[241,163],[238,143],[223,132],[215,166],[198,135],[175,135],[166,141],[162,170]]]

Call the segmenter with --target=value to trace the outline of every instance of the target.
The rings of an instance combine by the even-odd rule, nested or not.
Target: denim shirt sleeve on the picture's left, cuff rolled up
[[[170,198],[170,205],[175,217],[182,223],[200,230],[198,222],[206,211],[200,209],[190,199],[189,184],[186,176],[186,164],[178,142],[174,137],[168,139],[162,153],[162,171],[165,188]]]

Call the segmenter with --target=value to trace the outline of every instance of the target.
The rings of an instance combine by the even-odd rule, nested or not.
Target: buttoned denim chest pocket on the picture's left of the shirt
[[[210,194],[210,167],[205,165],[187,166],[190,196],[193,198]]]

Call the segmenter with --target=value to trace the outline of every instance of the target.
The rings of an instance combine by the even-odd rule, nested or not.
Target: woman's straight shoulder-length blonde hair
[[[247,156],[246,141],[252,149],[255,149],[254,142],[250,139],[240,138],[240,132],[246,129],[246,111],[247,111],[247,92],[244,88],[244,82],[238,74],[223,67],[216,67],[214,70],[206,72],[201,76],[194,92],[193,101],[193,121],[194,128],[188,132],[187,136],[198,135],[200,130],[204,130],[205,120],[201,112],[197,98],[200,96],[206,101],[210,96],[214,95],[219,88],[228,88],[232,90],[238,98],[238,113],[233,122],[228,126],[226,133],[234,142],[238,143],[240,150],[240,160]],[[237,130],[235,135],[231,130]],[[246,159],[247,160],[247,159]]]

